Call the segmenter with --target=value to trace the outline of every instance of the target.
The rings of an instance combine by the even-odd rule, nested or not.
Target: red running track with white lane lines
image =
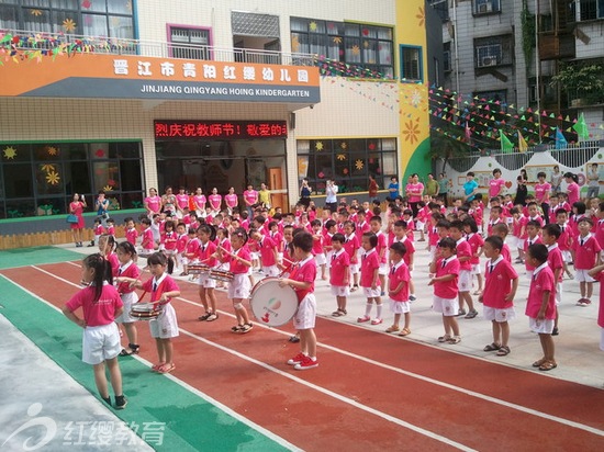
[[[68,262],[2,273],[57,307],[79,281]],[[174,375],[301,449],[604,448],[597,388],[324,318],[321,365],[297,372],[286,364],[298,352],[289,334],[256,326],[233,335],[220,291],[223,314],[200,323],[197,285],[180,286]],[[137,325],[141,354],[155,362],[147,325]]]

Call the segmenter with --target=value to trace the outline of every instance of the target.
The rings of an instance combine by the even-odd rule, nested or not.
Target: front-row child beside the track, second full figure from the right
[[[510,353],[510,320],[516,316],[514,296],[518,289],[518,274],[501,256],[503,240],[491,236],[484,239],[484,256],[489,259],[484,270],[484,292],[478,297],[484,304],[484,318],[491,320],[493,342],[484,351],[496,351],[499,357]]]

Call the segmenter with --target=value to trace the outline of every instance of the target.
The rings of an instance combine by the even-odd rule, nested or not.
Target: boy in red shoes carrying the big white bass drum
[[[293,326],[300,331],[300,353],[288,361],[297,371],[313,369],[318,365],[316,359],[316,336],[314,324],[316,318],[316,300],[314,297],[314,280],[316,263],[313,259],[313,236],[301,231],[293,235],[293,258],[298,261],[290,278],[279,281],[280,286],[290,285],[298,297],[298,310],[293,317]]]

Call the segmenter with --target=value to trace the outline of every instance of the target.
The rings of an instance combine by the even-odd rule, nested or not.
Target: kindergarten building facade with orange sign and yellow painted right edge
[[[128,211],[149,188],[266,182],[287,210],[302,178],[353,195],[369,176],[384,188],[427,172],[432,13],[422,0],[3,1],[0,224],[64,218],[74,193],[90,205],[100,190]]]

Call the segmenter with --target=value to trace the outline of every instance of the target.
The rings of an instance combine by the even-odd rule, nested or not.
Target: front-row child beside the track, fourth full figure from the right
[[[407,240],[407,244],[410,241]],[[403,257],[406,253],[406,247],[396,241],[390,247],[391,269],[388,278],[388,295],[390,297],[390,310],[394,314],[392,326],[385,332],[399,332],[399,336],[411,335],[411,303],[409,301],[409,283],[411,274]],[[404,315],[404,326],[401,330],[399,323],[401,315]]]

